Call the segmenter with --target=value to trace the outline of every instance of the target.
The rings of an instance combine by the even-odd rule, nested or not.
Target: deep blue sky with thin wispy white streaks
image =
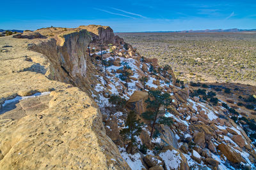
[[[0,29],[109,25],[115,32],[256,29],[254,1],[2,1]]]

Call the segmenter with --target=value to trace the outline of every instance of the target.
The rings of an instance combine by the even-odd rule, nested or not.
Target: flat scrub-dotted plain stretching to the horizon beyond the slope
[[[118,36],[145,57],[159,59],[162,66],[172,66],[181,73],[182,80],[211,77],[215,81],[256,85],[256,34],[152,32]]]

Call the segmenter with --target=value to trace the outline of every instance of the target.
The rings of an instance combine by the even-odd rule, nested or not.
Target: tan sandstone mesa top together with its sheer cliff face
[[[32,102],[18,97],[21,117],[20,112],[3,113],[0,169],[130,169],[106,136],[97,104],[77,88],[88,80],[88,32],[62,28],[36,32],[48,38],[9,36],[0,41],[0,46],[10,46],[0,58],[2,109],[17,95],[50,92],[43,103],[41,98]]]

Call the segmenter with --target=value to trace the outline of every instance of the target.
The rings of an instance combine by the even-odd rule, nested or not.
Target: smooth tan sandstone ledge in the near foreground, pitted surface
[[[89,96],[77,88],[51,96],[47,110],[1,127],[0,169],[129,168]]]

